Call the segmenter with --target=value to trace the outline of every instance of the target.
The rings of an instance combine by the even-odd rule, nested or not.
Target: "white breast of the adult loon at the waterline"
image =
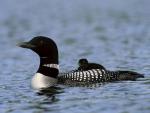
[[[33,89],[42,89],[54,86],[57,84],[57,79],[45,76],[41,73],[36,73],[31,81],[31,86]]]

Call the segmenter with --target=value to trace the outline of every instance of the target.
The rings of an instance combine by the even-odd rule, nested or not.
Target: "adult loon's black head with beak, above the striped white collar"
[[[58,49],[56,43],[44,36],[37,36],[28,42],[18,44],[22,48],[28,48],[36,52],[40,58],[48,58],[52,63],[58,64]]]

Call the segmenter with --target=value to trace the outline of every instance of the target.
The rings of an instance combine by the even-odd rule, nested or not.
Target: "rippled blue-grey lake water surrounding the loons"
[[[150,1],[0,0],[0,113],[149,113]],[[36,93],[30,80],[38,56],[16,46],[33,36],[53,38],[61,71],[79,58],[110,70],[145,74],[99,87],[58,86]]]

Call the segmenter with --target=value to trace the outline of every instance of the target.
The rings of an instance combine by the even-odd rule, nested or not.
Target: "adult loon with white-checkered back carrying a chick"
[[[91,84],[119,80],[136,80],[137,78],[144,77],[142,74],[132,71],[107,71],[104,69],[59,73],[58,49],[52,39],[45,36],[37,36],[29,42],[22,42],[18,45],[22,48],[31,49],[40,57],[39,68],[31,81],[31,86],[34,89],[48,88],[56,84]]]

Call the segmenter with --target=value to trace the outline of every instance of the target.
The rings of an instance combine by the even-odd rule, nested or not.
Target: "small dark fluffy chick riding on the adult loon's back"
[[[78,70],[80,70],[80,71],[86,71],[86,70],[90,70],[90,69],[106,70],[104,66],[102,66],[100,64],[96,64],[96,63],[89,63],[88,60],[85,58],[79,59],[78,65],[79,65]]]

